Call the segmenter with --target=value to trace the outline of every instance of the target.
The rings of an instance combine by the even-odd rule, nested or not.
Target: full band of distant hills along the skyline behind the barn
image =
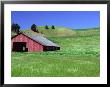
[[[92,36],[92,35],[99,35],[100,29],[99,28],[92,28],[92,29],[77,29],[72,30],[65,27],[55,27],[55,29],[45,29],[44,26],[38,26],[38,31],[40,33],[33,32],[31,29],[22,30],[22,32],[31,35],[43,35],[44,37],[79,37],[79,36]],[[12,36],[15,33],[12,32]]]

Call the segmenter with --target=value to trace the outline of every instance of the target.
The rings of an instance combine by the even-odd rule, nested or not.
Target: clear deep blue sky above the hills
[[[21,29],[37,26],[62,26],[71,29],[100,27],[99,11],[12,11],[11,23],[17,23]]]

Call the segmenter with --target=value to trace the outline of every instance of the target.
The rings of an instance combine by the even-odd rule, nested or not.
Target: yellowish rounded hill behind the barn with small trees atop
[[[55,27],[55,29],[45,29],[44,26],[39,26],[38,31],[45,37],[62,37],[62,36],[73,36],[76,32],[65,28],[65,27]],[[36,34],[35,32],[31,31],[30,29],[28,30],[23,30],[25,33],[31,33],[31,34]]]

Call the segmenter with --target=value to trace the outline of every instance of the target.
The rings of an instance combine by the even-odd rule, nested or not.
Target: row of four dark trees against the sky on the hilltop
[[[45,28],[46,30],[50,29],[48,25],[45,25],[44,28]],[[52,25],[52,26],[51,26],[51,29],[55,29],[55,26]],[[19,33],[21,32],[21,31],[20,31],[20,25],[13,23],[13,24],[11,25],[11,30],[12,30],[13,32],[19,34]],[[32,25],[31,25],[31,30],[34,31],[34,32],[39,33],[38,27],[37,27],[35,24],[32,24]]]

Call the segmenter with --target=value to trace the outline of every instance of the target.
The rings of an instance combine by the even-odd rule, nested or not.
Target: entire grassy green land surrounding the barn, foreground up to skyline
[[[48,52],[12,52],[12,77],[100,76],[99,29],[71,30],[58,27],[55,30],[39,28],[39,31],[61,49]]]

